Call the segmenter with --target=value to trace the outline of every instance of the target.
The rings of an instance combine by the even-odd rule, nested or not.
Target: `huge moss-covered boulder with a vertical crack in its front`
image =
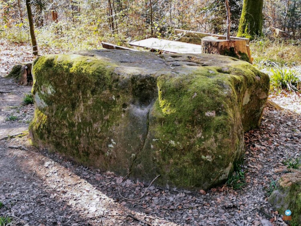
[[[220,55],[100,50],[39,57],[33,143],[141,180],[207,189],[244,153],[269,78]]]

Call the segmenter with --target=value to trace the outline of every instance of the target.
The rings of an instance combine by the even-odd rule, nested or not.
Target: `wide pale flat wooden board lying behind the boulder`
[[[130,42],[131,46],[140,46],[147,49],[162,51],[163,53],[202,53],[202,46],[185,42],[176,42],[165,39],[149,38]]]

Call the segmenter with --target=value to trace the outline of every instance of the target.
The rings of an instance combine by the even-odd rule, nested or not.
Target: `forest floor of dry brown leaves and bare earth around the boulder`
[[[11,217],[11,225],[287,225],[267,197],[281,176],[275,169],[300,157],[298,94],[271,96],[286,109],[266,107],[260,128],[245,133],[247,184],[241,190],[151,185],[141,197],[148,184],[31,145],[26,130],[34,106],[22,104],[31,87],[4,78],[14,64],[33,60],[30,46],[0,40],[0,49],[0,217]]]

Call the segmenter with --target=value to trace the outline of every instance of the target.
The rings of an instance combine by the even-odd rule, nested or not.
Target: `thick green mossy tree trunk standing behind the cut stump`
[[[237,37],[253,39],[262,35],[263,0],[244,0]]]

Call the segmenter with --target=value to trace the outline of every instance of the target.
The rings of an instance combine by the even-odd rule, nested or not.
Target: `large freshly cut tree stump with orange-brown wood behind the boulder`
[[[203,53],[231,56],[252,64],[250,47],[245,40],[225,40],[215,36],[206,36],[202,38],[201,44]]]

